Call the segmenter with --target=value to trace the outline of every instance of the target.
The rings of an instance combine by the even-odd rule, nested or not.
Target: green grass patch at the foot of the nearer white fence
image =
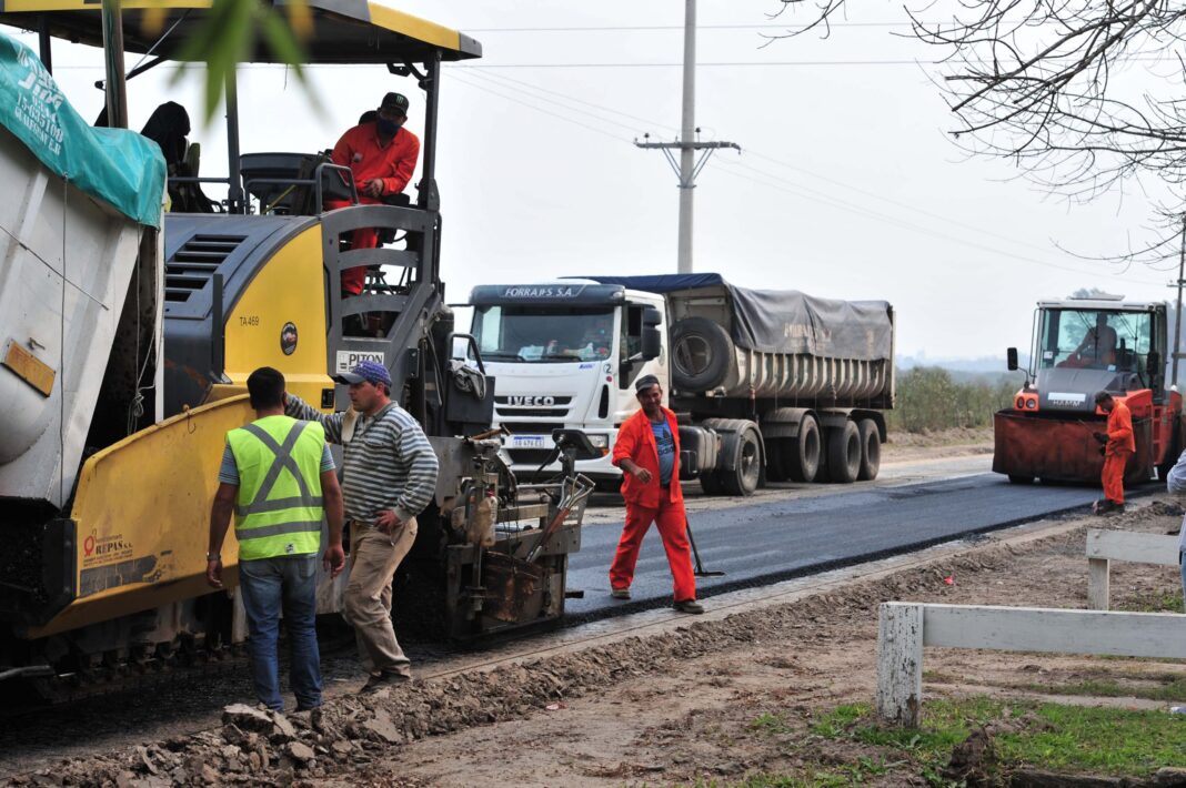
[[[1186,767],[1186,720],[1160,711],[937,699],[927,701],[918,730],[882,728],[867,705],[852,705],[818,718],[811,732],[876,748],[882,763],[907,760],[927,782],[942,784],[938,774],[952,748],[991,722],[999,723],[993,742],[1006,773],[1040,767],[1144,777],[1161,767]]]

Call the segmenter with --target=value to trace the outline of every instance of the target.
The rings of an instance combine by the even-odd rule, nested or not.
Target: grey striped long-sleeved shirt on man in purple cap
[[[342,441],[345,414],[327,416],[294,395],[288,395],[286,412],[320,422],[325,440],[342,444],[342,494],[349,519],[372,523],[380,512],[394,510],[407,523],[432,501],[436,453],[416,419],[398,405],[375,416],[359,415],[347,443]]]

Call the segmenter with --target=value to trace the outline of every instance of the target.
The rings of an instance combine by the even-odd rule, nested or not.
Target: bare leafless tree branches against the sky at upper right
[[[1186,5],[1163,0],[911,0],[914,37],[938,50],[951,134],[1090,200],[1139,181],[1159,239],[1124,257],[1177,252],[1186,213]],[[783,2],[788,36],[830,33],[848,0]],[[788,11],[793,9],[793,11]],[[854,8],[855,11],[855,8]],[[942,21],[932,21],[942,19]]]

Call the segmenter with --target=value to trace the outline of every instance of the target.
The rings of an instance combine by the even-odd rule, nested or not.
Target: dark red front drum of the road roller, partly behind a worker
[[[1099,482],[1104,459],[1091,434],[1102,431],[1103,421],[1083,422],[997,411],[993,421],[993,470],[1008,476],[1051,481]],[[1150,422],[1134,418],[1136,453],[1124,469],[1124,481],[1137,483],[1153,476]]]

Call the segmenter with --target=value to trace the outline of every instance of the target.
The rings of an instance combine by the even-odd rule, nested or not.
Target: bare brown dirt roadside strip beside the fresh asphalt
[[[803,775],[859,755],[852,742],[820,739],[809,726],[839,704],[872,701],[880,602],[1084,608],[1089,525],[1166,533],[1180,520],[1179,507],[1156,501],[1124,515],[1050,524],[1034,532],[1047,536],[1024,544],[1003,533],[792,602],[640,626],[640,636],[338,698],[320,720],[241,709],[224,717],[222,729],[74,758],[14,783],[528,788],[723,786]],[[1112,564],[1114,608],[1163,608],[1178,587],[1174,568]],[[725,607],[723,597],[708,601],[714,603]],[[1042,687],[1084,678],[1136,687],[1186,674],[1177,661],[935,648],[925,659],[929,698],[1057,699]],[[780,719],[777,733],[755,725],[763,715]],[[872,782],[922,784],[901,769]]]

